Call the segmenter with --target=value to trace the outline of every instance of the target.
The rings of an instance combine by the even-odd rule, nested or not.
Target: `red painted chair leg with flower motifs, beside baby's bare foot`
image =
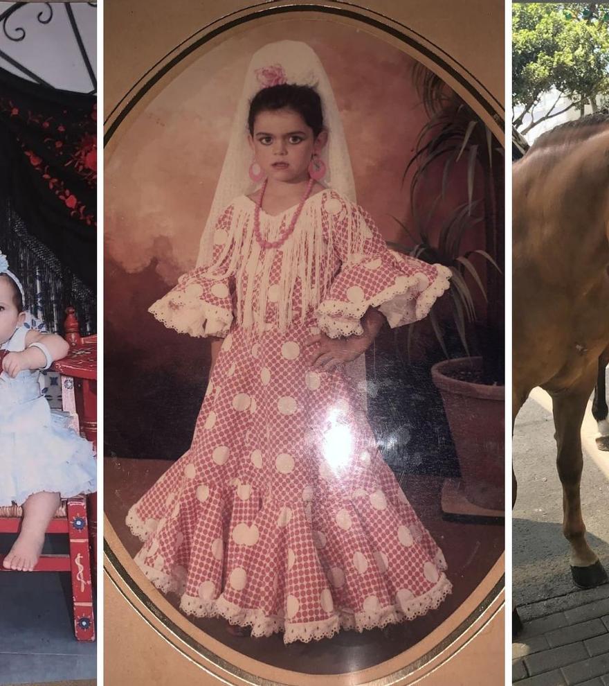
[[[95,640],[93,621],[93,585],[89,558],[89,524],[85,498],[67,502],[70,568],[74,608],[74,633],[79,641]]]

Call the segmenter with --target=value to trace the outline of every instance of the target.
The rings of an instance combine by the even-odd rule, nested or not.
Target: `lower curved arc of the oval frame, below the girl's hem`
[[[419,643],[394,658],[343,674],[289,671],[244,656],[194,626],[146,579],[120,543],[107,518],[104,518],[104,530],[104,574],[107,580],[163,640],[210,676],[235,686],[415,684],[466,647],[504,608],[502,572],[505,555],[502,554],[471,596],[450,617]]]

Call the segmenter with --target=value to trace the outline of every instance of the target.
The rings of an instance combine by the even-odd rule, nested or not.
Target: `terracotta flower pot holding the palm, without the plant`
[[[431,376],[442,395],[467,500],[505,507],[505,387],[461,380],[482,371],[482,358],[438,362]],[[453,378],[457,376],[457,378]]]

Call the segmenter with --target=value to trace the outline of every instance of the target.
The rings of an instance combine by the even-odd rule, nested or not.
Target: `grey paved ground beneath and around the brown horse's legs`
[[[513,683],[609,686],[609,585],[583,591],[572,582],[552,415],[536,397],[540,402],[530,398],[522,407],[513,441],[518,502],[512,586],[525,625],[512,644]],[[588,542],[609,569],[609,453],[594,450],[589,424],[583,431],[582,510]]]

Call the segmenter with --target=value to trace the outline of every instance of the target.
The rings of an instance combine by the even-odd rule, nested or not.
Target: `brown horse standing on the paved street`
[[[608,270],[609,115],[598,114],[543,134],[513,166],[513,417],[534,387],[552,397],[563,533],[581,588],[608,580],[579,495],[581,423],[609,354]]]

